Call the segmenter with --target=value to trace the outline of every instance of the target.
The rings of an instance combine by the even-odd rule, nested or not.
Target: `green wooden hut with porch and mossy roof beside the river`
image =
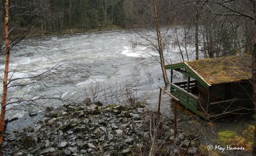
[[[170,93],[179,103],[203,118],[253,109],[252,59],[248,55],[218,57],[177,64],[171,70]],[[173,71],[188,80],[173,82]]]

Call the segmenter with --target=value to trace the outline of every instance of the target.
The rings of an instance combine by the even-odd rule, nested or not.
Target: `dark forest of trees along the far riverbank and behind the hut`
[[[205,57],[251,53],[253,4],[229,1],[225,6],[224,2],[159,1],[159,24],[179,27],[185,34],[180,40],[182,44],[194,43],[196,51],[200,50]],[[2,28],[3,5],[1,1]],[[154,28],[152,3],[146,0],[13,0],[10,6],[10,36],[19,36],[28,27],[33,27],[34,36],[114,27]]]

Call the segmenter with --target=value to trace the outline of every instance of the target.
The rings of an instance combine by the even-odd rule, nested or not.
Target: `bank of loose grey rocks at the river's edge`
[[[142,104],[65,104],[56,110],[47,108],[35,125],[6,134],[3,155],[198,153],[198,144],[184,132],[173,134],[173,120],[158,117]]]

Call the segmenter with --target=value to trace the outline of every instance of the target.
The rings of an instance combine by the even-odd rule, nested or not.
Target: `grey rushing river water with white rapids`
[[[161,68],[156,50],[139,42],[147,43],[133,31],[24,39],[11,52],[7,118],[25,118],[27,113],[20,110],[40,112],[65,103],[57,99],[125,103],[125,94],[156,108]],[[180,61],[175,53],[166,58]],[[3,69],[1,57],[1,76]],[[170,112],[170,106],[163,110]]]

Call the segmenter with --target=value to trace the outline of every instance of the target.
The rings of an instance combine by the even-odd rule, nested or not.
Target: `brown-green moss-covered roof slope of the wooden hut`
[[[249,55],[193,60],[186,64],[211,85],[252,78],[252,59]]]

